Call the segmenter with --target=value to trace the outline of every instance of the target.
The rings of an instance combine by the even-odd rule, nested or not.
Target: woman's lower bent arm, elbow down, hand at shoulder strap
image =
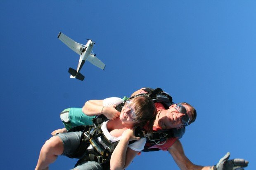
[[[140,140],[140,137],[135,137],[134,132],[131,129],[127,129],[123,132],[121,140],[117,144],[110,159],[111,170],[123,170],[128,167],[133,158],[139,151],[135,151],[128,147],[131,140]],[[145,143],[143,144],[143,146]]]

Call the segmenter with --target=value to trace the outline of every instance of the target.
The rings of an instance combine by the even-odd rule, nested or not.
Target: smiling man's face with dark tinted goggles
[[[191,119],[192,114],[190,112],[191,107],[188,105],[183,105],[185,109],[187,110],[187,116],[188,119]],[[164,111],[164,110],[163,110]],[[184,123],[183,116],[186,116],[186,114],[181,113],[182,110],[177,108],[177,105],[171,105],[168,110],[165,110],[164,112],[160,112],[158,116],[158,126],[161,127],[161,129],[171,129],[171,128],[182,128],[186,123]],[[181,112],[180,112],[181,111]]]

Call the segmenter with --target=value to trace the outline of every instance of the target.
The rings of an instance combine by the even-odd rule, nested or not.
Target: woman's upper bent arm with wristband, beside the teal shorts
[[[108,99],[115,99],[115,98],[108,98]],[[113,103],[104,103],[104,101],[108,100],[89,100],[85,102],[85,105],[82,108],[82,111],[87,116],[95,116],[104,114],[108,119],[116,119],[119,117],[120,112],[115,109],[116,105],[111,105]],[[116,98],[118,100],[114,100],[116,104],[122,102],[120,98]],[[120,100],[119,100],[120,99]],[[108,105],[109,104],[109,105]]]

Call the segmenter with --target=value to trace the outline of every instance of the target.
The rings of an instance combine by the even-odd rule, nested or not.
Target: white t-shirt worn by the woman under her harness
[[[123,100],[121,98],[106,98],[103,100],[103,105],[104,106],[110,106],[110,105],[119,105],[120,103],[122,103]],[[117,118],[119,119],[119,118]],[[104,135],[107,137],[108,140],[110,140],[111,142],[116,142],[118,140],[121,139],[121,136],[119,137],[114,137],[109,133],[109,130],[107,129],[107,123],[108,121],[105,121],[101,124],[101,129],[102,132],[104,133]],[[100,141],[100,143],[106,148],[107,146],[101,141],[101,138],[98,137],[98,140]],[[140,140],[137,140],[136,142],[133,142],[132,144],[129,144],[128,147],[130,149],[133,149],[134,151],[141,151],[142,149],[144,149],[144,146],[146,144],[146,139],[145,138],[141,138]],[[92,149],[92,145],[90,145],[87,149]]]

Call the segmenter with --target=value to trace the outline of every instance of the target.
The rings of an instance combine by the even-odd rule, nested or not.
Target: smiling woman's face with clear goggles
[[[123,123],[129,124],[129,125],[135,125],[137,124],[137,121],[135,120],[135,118],[136,118],[136,111],[134,109],[133,100],[127,100],[121,111],[120,119]]]

